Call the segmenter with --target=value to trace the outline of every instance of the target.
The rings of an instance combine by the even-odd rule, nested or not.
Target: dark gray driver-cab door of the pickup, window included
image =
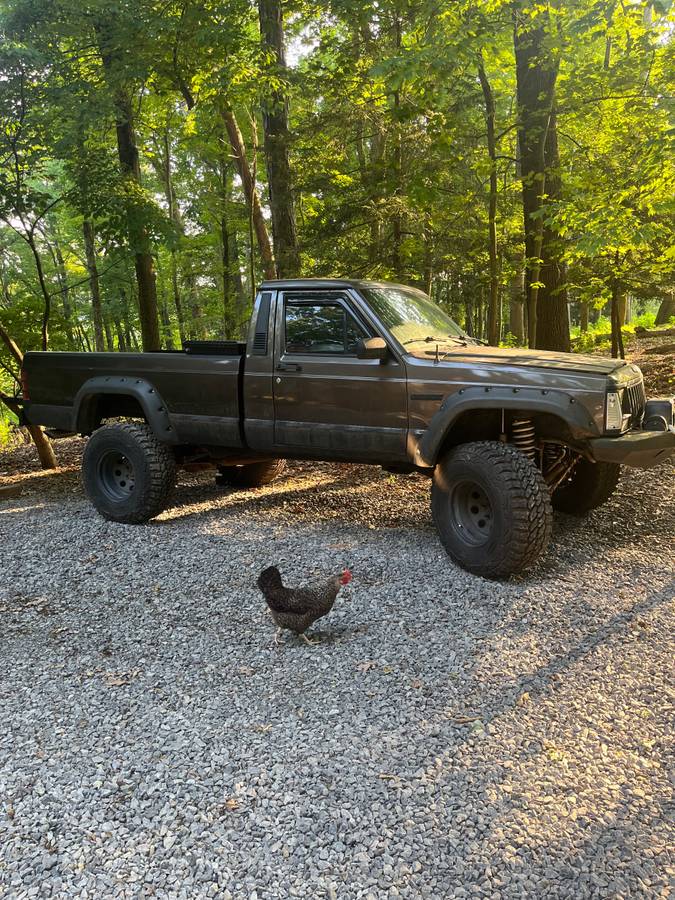
[[[322,459],[406,459],[405,368],[358,359],[374,335],[346,292],[280,292],[274,359],[274,442]]]

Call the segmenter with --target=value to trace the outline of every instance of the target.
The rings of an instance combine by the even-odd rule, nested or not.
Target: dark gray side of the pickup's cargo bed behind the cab
[[[95,420],[133,416],[140,404],[146,414],[162,420],[171,443],[202,444],[208,435],[214,444],[241,447],[245,347],[213,341],[186,342],[184,350],[175,352],[27,353],[24,372],[32,412],[48,427],[86,433],[92,423],[96,427]],[[130,392],[126,399],[119,397],[121,387]],[[86,402],[94,388],[96,408]],[[162,397],[161,407],[155,391]]]

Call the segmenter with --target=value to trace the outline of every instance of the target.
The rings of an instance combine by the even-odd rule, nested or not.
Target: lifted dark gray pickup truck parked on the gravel
[[[636,366],[481,345],[388,283],[265,282],[246,343],[28,353],[23,383],[28,421],[90,435],[84,486],[108,519],[156,516],[181,465],[255,487],[289,458],[373,463],[430,475],[444,547],[491,578],[537,559],[553,509],[586,513],[621,465],[675,453],[675,403],[646,400]]]

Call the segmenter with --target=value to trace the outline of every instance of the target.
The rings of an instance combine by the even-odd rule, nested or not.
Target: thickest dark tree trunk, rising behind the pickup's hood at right
[[[513,12],[518,148],[522,179],[523,221],[527,273],[528,341],[530,347],[569,350],[567,298],[564,273],[555,259],[555,235],[544,227],[544,194],[559,196],[555,83],[557,56],[550,51],[547,10],[532,19],[523,15],[523,3]],[[547,167],[553,192],[547,185]],[[540,300],[540,283],[542,303]],[[541,334],[539,318],[541,316]]]

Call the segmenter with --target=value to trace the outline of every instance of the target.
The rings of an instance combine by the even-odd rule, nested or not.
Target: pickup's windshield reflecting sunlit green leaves
[[[363,293],[399,344],[463,338],[456,322],[422,291],[404,287],[367,287]]]

